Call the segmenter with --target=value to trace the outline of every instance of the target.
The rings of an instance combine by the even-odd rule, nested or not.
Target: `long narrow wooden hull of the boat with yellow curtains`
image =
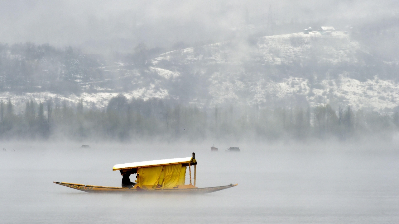
[[[135,189],[135,188],[126,188],[126,187],[103,187],[103,186],[94,186],[94,185],[81,185],[75,183],[65,183],[65,182],[53,182],[65,187],[70,187],[79,191],[85,191],[88,193],[194,193],[194,194],[206,194],[215,191],[221,191],[227,188],[235,187],[238,184],[230,184],[226,186],[219,187],[203,187],[203,188],[187,188],[187,189],[157,189],[157,190],[143,190],[143,189]]]

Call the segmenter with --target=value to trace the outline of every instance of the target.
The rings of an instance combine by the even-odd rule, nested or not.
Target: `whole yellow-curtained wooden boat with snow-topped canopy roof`
[[[77,189],[85,192],[98,193],[211,193],[220,191],[237,184],[225,185],[219,187],[196,187],[196,168],[197,161],[193,157],[177,158],[177,159],[161,159],[136,163],[117,164],[113,170],[119,170],[120,175],[136,173],[136,185],[131,188],[127,187],[103,187],[94,185],[81,185],[65,182],[53,182],[59,185]],[[194,185],[191,178],[191,166],[194,165]],[[186,185],[186,170],[189,169],[190,184]]]

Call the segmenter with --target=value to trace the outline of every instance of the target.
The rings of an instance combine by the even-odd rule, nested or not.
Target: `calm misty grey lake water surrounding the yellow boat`
[[[0,150],[4,224],[399,223],[395,144],[221,144],[215,145],[218,152],[210,151],[211,144],[1,144],[7,150]],[[242,151],[227,153],[229,146]],[[53,183],[120,187],[115,164],[189,157],[193,151],[198,187],[239,185],[206,195],[129,195]]]

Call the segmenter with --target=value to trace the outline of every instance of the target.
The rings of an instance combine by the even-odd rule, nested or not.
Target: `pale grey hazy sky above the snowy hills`
[[[269,6],[276,22],[323,21],[397,15],[397,1],[371,0],[1,0],[0,42],[31,41],[83,49],[130,49],[178,41],[220,41],[232,29],[267,23]],[[301,28],[302,29],[302,28]]]

